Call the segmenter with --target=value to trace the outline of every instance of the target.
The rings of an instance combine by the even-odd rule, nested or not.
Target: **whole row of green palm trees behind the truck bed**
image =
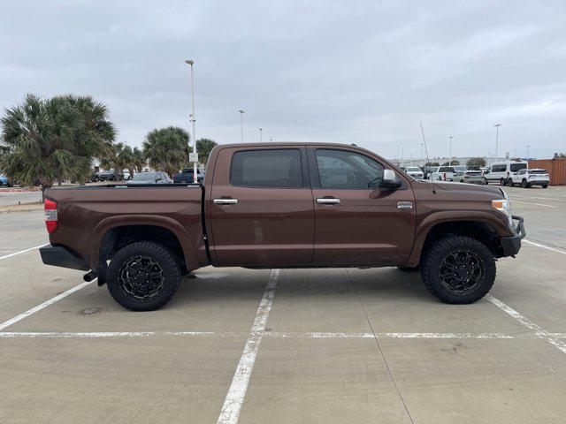
[[[189,163],[190,136],[183,128],[154,129],[142,148],[131,148],[116,142],[108,108],[89,95],[27,95],[4,110],[0,125],[0,170],[22,186],[40,185],[45,190],[62,181],[84,184],[96,160],[104,169],[127,169],[131,175],[149,163],[172,176]],[[201,163],[216,144],[210,139],[196,141]]]

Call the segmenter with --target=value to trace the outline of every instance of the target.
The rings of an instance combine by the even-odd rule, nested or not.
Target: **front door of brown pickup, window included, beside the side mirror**
[[[415,237],[415,198],[409,180],[383,188],[383,163],[348,148],[308,148],[315,200],[317,265],[397,265]]]

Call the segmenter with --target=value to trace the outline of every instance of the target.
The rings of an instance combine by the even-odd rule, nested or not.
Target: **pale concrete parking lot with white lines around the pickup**
[[[207,268],[133,313],[42,265],[42,211],[0,214],[0,422],[563,422],[566,187],[506,190],[527,238],[469,306],[398,269]]]

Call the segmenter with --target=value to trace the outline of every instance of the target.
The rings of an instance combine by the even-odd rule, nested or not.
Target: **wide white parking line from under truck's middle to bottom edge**
[[[228,389],[222,411],[218,417],[218,424],[236,424],[238,422],[241,405],[248,390],[249,377],[254,369],[257,351],[264,334],[265,324],[267,324],[267,318],[272,310],[273,296],[275,295],[278,279],[279,269],[272,269],[267,287],[265,287],[264,297],[257,308],[256,319],[251,327],[251,333],[244,346],[244,352],[241,353],[240,362],[238,362],[232,384],[230,384],[230,389]]]

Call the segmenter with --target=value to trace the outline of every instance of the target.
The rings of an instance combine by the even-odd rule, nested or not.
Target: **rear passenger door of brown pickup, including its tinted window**
[[[314,206],[303,146],[220,150],[207,206],[218,265],[312,262]]]

